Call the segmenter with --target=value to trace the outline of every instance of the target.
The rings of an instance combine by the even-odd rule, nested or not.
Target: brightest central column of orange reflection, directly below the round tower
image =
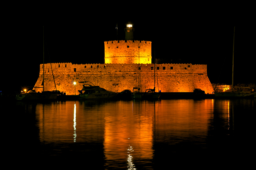
[[[156,104],[157,105],[157,104]],[[127,158],[127,147],[133,146],[134,159],[152,159],[152,104],[117,102],[113,112],[105,114],[104,153],[109,160]],[[118,154],[117,154],[118,153]]]

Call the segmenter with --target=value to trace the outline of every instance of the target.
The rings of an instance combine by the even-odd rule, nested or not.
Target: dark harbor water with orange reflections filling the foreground
[[[1,113],[5,157],[28,169],[247,169],[254,153],[253,99],[2,101]]]

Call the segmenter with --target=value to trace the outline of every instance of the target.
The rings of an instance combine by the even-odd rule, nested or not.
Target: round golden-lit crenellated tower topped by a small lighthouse
[[[133,40],[132,24],[127,24],[124,31],[125,40],[104,42],[105,63],[151,64],[151,42]]]

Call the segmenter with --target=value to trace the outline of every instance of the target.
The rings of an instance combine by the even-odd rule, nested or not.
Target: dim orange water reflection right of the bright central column
[[[155,115],[157,140],[168,138],[177,143],[206,136],[213,113],[212,100],[161,101],[160,107]]]

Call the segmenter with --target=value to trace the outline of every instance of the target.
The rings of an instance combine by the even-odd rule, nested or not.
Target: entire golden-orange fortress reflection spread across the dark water
[[[44,143],[103,143],[106,162],[150,162],[155,142],[204,143],[214,107],[229,110],[214,100],[67,101],[37,105],[40,141]]]

